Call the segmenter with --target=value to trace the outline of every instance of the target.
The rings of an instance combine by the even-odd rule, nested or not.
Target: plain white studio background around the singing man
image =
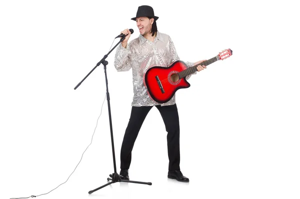
[[[167,179],[166,132],[153,108],[132,151],[131,180],[105,184],[113,161],[103,67],[115,36],[150,5],[181,60],[232,56],[178,90],[181,171]],[[1,1],[1,198],[299,198],[299,31],[291,1]],[[113,45],[117,43],[114,41]],[[132,74],[106,59],[119,151]],[[102,114],[97,118],[101,111]],[[91,142],[91,138],[97,127]]]

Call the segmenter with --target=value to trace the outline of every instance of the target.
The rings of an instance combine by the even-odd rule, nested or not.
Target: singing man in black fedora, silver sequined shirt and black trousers
[[[128,29],[125,29],[121,32],[121,34],[125,35],[125,39],[116,48],[114,66],[117,71],[132,69],[134,93],[131,114],[121,146],[121,170],[119,175],[121,179],[129,180],[128,169],[135,139],[146,115],[155,106],[160,112],[167,131],[169,159],[167,177],[181,182],[188,182],[189,179],[182,174],[179,167],[179,119],[175,95],[168,102],[159,104],[148,96],[143,84],[143,76],[147,69],[153,66],[168,67],[174,61],[179,60],[170,37],[157,31],[157,19],[158,17],[154,15],[154,11],[150,6],[138,7],[136,17],[131,20],[136,21],[136,26],[140,33],[139,37],[127,43],[131,33]],[[185,62],[185,64],[187,67],[191,67],[202,61],[204,60],[194,64]],[[201,71],[204,68],[206,66],[198,66],[197,71]],[[190,76],[187,76],[186,79]]]

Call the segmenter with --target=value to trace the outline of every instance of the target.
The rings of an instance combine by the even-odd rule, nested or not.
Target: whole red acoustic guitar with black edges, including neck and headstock
[[[227,49],[217,56],[189,68],[180,60],[175,61],[169,67],[151,67],[144,75],[144,86],[154,101],[165,103],[173,97],[178,89],[190,87],[185,77],[196,72],[198,65],[207,66],[215,61],[224,60],[231,55],[232,51]]]

